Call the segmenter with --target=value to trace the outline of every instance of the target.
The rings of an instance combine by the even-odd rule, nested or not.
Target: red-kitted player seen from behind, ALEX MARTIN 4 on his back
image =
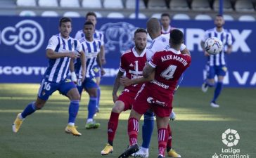
[[[191,64],[189,53],[180,51],[183,33],[172,30],[169,39],[170,48],[153,55],[143,68],[143,77],[132,79],[132,84],[146,82],[136,95],[128,120],[129,148],[119,158],[127,158],[139,150],[137,135],[139,119],[148,109],[155,112],[158,126],[158,158],[165,157],[167,145],[169,114],[172,112],[173,93],[181,74]]]

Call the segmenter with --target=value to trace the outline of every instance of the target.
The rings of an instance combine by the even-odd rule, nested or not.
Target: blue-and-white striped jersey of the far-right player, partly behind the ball
[[[222,32],[217,32],[217,28],[215,27],[213,29],[206,30],[205,37],[202,41],[205,42],[206,39],[210,37],[217,37],[218,39],[220,39],[222,41],[223,48],[222,52],[216,55],[210,55],[207,59],[207,64],[209,64],[210,66],[226,65],[225,46],[231,46],[231,44],[233,43],[231,33],[226,29],[222,29]]]

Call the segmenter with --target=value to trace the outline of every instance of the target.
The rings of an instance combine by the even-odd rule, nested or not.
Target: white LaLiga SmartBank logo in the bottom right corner
[[[240,136],[238,131],[234,129],[227,129],[222,133],[222,143],[226,145],[226,147],[222,147],[222,152],[220,154],[212,155],[212,158],[249,158],[249,154],[241,154],[241,150],[239,148],[235,148],[238,145],[240,140]]]

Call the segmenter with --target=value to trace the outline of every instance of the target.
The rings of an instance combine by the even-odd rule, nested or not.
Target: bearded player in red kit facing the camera
[[[146,60],[146,43],[147,32],[146,29],[136,29],[134,32],[135,46],[131,50],[125,52],[121,56],[120,68],[115,78],[115,84],[113,87],[113,102],[115,106],[112,108],[110,119],[108,121],[108,143],[101,151],[102,155],[113,152],[113,140],[115,137],[115,131],[117,130],[118,118],[121,112],[130,110],[136,93],[141,88],[141,84],[125,86],[124,90],[117,97],[117,91],[120,87],[120,78],[126,73],[126,77],[129,79],[136,79],[142,77],[142,70],[145,66]]]

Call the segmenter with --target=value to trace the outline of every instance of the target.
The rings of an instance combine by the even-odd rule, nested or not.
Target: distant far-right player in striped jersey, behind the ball
[[[216,100],[219,97],[220,93],[222,92],[223,79],[227,71],[225,54],[226,53],[229,54],[232,51],[231,33],[223,28],[224,23],[225,22],[222,15],[216,15],[215,28],[208,29],[205,32],[205,37],[201,41],[201,47],[203,48],[203,51],[205,52],[205,56],[207,57],[207,64],[206,64],[207,79],[202,85],[203,92],[206,92],[208,87],[215,86],[215,76],[217,76],[215,93],[210,103],[211,107],[219,107],[219,105],[216,103]],[[205,51],[205,41],[210,37],[217,37],[222,41],[223,49],[219,54],[209,55]]]

